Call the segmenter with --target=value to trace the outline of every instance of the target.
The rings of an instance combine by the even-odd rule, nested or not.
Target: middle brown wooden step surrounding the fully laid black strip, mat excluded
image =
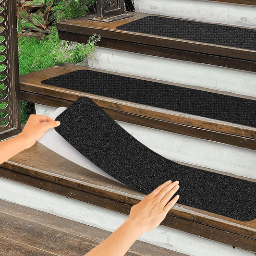
[[[48,69],[20,76],[21,98],[29,102],[52,107],[69,107],[73,101],[85,96],[93,99],[98,106],[117,121],[130,122],[168,132],[256,150],[256,128],[254,127],[207,119],[172,110],[159,109],[124,100],[107,98],[51,85],[44,85],[41,83],[42,80],[79,69],[95,70],[120,75],[120,73],[101,71],[84,66],[71,64],[57,65]],[[121,75],[155,81],[158,83],[177,85],[175,83],[141,78],[134,75]],[[202,90],[202,87],[192,87],[188,85],[177,86]],[[213,90],[210,89],[203,90],[213,92]],[[223,94],[223,92],[219,93]],[[231,93],[227,93],[227,95],[238,96]],[[256,100],[254,97],[245,98]]]

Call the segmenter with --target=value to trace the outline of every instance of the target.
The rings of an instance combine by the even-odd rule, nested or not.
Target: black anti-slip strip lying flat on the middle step
[[[74,71],[42,83],[256,127],[256,100],[91,70]]]

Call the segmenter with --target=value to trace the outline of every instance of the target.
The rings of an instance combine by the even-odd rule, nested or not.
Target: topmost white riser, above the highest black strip
[[[204,0],[134,0],[136,12],[256,28],[256,6]]]

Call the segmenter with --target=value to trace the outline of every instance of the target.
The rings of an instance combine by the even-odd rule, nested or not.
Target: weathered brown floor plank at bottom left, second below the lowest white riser
[[[5,213],[1,213],[0,234],[10,240],[56,255],[81,256],[98,244]]]

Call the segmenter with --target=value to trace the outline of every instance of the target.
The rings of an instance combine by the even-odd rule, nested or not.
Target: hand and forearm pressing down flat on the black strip
[[[158,186],[131,208],[129,217],[103,243],[85,256],[123,256],[142,234],[155,229],[179,199],[178,181],[167,181]]]

